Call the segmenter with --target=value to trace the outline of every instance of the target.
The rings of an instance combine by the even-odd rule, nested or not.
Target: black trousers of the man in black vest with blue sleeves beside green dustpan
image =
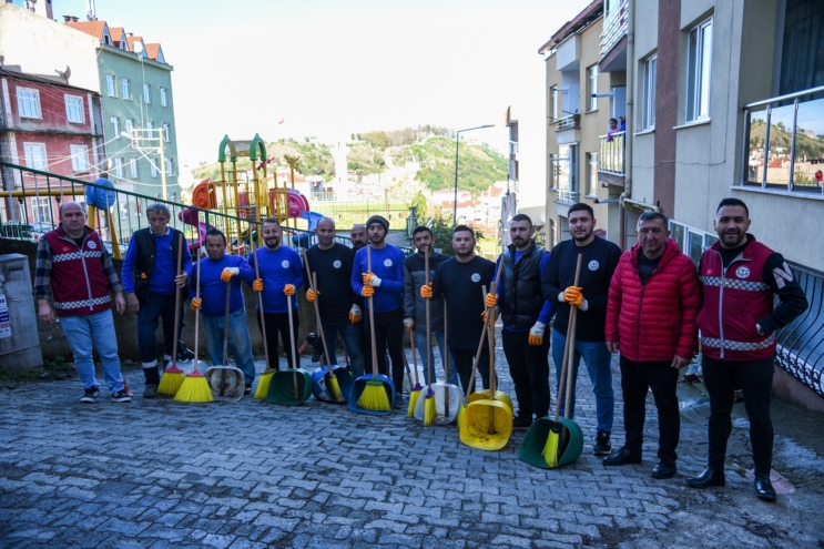
[[[529,332],[501,332],[503,354],[518,397],[518,417],[549,415],[549,337],[541,345],[529,345]]]

